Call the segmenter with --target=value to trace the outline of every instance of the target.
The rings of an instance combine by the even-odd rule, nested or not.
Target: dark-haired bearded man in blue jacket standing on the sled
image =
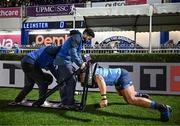
[[[59,82],[74,72],[72,63],[75,63],[81,69],[85,67],[85,62],[83,62],[81,57],[81,48],[83,43],[90,41],[94,37],[93,30],[89,28],[86,28],[83,34],[77,30],[70,31],[70,37],[64,42],[55,59],[55,65],[58,65],[58,74],[60,75],[58,78]],[[76,82],[77,79],[74,75],[60,88],[61,105],[68,107],[75,105],[74,92]]]

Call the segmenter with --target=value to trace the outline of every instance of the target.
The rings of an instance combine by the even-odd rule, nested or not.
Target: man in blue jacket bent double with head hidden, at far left
[[[23,101],[26,95],[33,89],[35,83],[39,87],[39,98],[46,94],[48,85],[52,83],[53,77],[50,74],[43,72],[42,68],[50,70],[53,76],[58,78],[58,73],[53,62],[60,48],[61,46],[42,47],[23,57],[21,66],[25,73],[27,83],[15,98],[16,103]]]

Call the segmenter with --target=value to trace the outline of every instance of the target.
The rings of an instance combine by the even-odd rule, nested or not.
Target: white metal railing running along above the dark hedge
[[[37,50],[39,48],[43,47],[43,45],[37,45],[37,46],[31,46],[31,45],[22,45],[20,48],[20,53],[29,53],[34,50]],[[4,47],[0,48],[0,54],[4,53],[16,53],[16,48],[7,49]],[[109,46],[107,44],[101,44],[101,45],[94,45],[94,47],[89,45],[84,45],[82,49],[83,53],[91,53],[91,54],[99,54],[99,53],[136,53],[136,54],[143,54],[143,53],[149,53],[148,48],[142,48],[139,46],[132,47],[131,45],[126,46]],[[151,53],[164,53],[164,54],[178,54],[180,53],[180,45],[176,44],[173,45],[171,48],[167,45],[160,45],[160,47],[154,47],[152,48]]]

